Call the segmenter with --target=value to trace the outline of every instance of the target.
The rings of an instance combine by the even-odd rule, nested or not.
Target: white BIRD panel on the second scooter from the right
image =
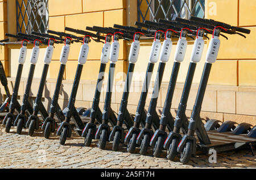
[[[193,45],[192,54],[191,54],[191,62],[199,62],[201,60],[202,54],[204,51],[204,39],[201,36],[195,40]]]

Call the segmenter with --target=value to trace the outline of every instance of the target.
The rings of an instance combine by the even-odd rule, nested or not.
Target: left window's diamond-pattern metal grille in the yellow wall
[[[17,32],[46,32],[49,23],[48,0],[16,0]]]

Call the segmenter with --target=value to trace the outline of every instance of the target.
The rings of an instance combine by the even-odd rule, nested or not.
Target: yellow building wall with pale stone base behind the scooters
[[[177,0],[176,0],[177,1]],[[47,11],[43,11],[45,15],[42,19],[38,19],[33,14],[35,3],[46,3]],[[253,125],[256,124],[256,0],[195,0],[195,1],[177,1],[173,3],[174,7],[170,10],[166,2],[160,5],[158,1],[148,5],[146,0],[48,0],[48,1],[30,1],[30,0],[0,0],[0,40],[5,39],[5,33],[16,34],[17,31],[44,31],[45,29],[55,31],[65,31],[65,27],[85,30],[86,26],[101,26],[113,27],[113,24],[121,24],[134,26],[134,22],[143,19],[154,20],[156,18],[170,18],[173,15],[187,18],[191,12],[193,14],[208,19],[219,20],[231,24],[232,26],[246,27],[251,30],[246,39],[239,35],[226,35],[228,40],[220,37],[221,47],[218,53],[217,61],[212,66],[212,71],[209,77],[209,83],[202,106],[201,118],[218,119],[218,120],[233,120],[237,123],[247,122]],[[170,1],[168,1],[170,2]],[[190,3],[190,4],[189,4]],[[172,6],[168,5],[168,6]],[[193,6],[196,5],[196,6]],[[40,6],[42,7],[42,6]],[[150,7],[150,9],[148,8]],[[188,11],[190,9],[190,11]],[[201,9],[201,10],[200,10]],[[203,10],[203,11],[202,11]],[[161,11],[161,13],[160,13]],[[163,12],[164,11],[164,12]],[[159,12],[159,13],[158,13]],[[154,16],[155,15],[155,16]],[[32,18],[31,18],[32,17]],[[34,21],[32,21],[33,19]],[[35,22],[35,19],[38,22]],[[34,24],[33,26],[31,24]],[[35,24],[38,23],[37,27]],[[23,24],[23,26],[22,26]],[[42,25],[43,24],[43,25]],[[25,26],[26,25],[26,26]],[[31,26],[31,27],[30,27]],[[15,41],[11,39],[11,41]],[[131,41],[120,40],[121,51],[119,52],[119,60],[115,70],[115,86],[112,97],[112,107],[114,111],[118,111],[119,103],[122,98],[123,81],[127,71],[127,56]],[[200,82],[201,73],[207,52],[209,40],[205,39],[205,48],[201,61],[197,65],[195,77],[191,93],[189,94],[187,116],[191,115],[193,103],[195,103],[197,88]],[[131,86],[131,94],[129,95],[128,108],[131,113],[135,113],[137,108],[139,95],[141,94],[142,81],[144,72],[146,72],[146,64],[152,39],[141,40],[141,50],[139,58],[135,65],[135,75]],[[63,86],[60,94],[61,106],[67,106],[68,97],[71,93],[73,79],[75,77],[75,69],[77,66],[77,58],[80,51],[79,43],[71,45],[71,53],[65,69]],[[177,78],[177,85],[172,102],[172,113],[178,107],[185,76],[191,56],[193,41],[189,41],[185,60],[180,66],[180,73]],[[49,66],[47,75],[46,89],[44,90],[44,103],[48,106],[51,97],[53,96],[57,73],[59,72],[59,58],[61,44],[55,44],[53,59]],[[96,88],[96,79],[100,68],[100,56],[102,43],[92,41],[89,44],[90,51],[88,60],[84,66],[81,76],[81,83],[76,98],[77,107],[90,107],[92,105],[94,90]],[[10,91],[13,89],[16,69],[18,68],[18,53],[20,44],[11,43],[0,46],[0,60],[5,66],[5,72],[9,79]],[[170,79],[176,41],[172,47],[170,60],[166,64],[164,72],[163,84],[160,89],[158,98],[158,108],[161,110],[166,98],[168,81]],[[20,83],[19,99],[22,99],[26,86],[26,77],[30,65],[29,58],[32,45],[28,47],[27,60],[22,73],[22,82]],[[43,56],[46,47],[40,48],[40,55],[31,90],[31,101],[36,97],[40,77],[42,73]],[[154,85],[156,70],[158,64],[155,65],[153,77],[151,79]],[[108,69],[108,66],[107,66]],[[152,86],[151,85],[151,86]],[[105,89],[106,86],[104,85]],[[5,94],[2,86],[1,99]],[[151,88],[152,90],[152,88]],[[148,106],[152,91],[148,94]],[[100,106],[103,107],[105,93],[102,93]]]

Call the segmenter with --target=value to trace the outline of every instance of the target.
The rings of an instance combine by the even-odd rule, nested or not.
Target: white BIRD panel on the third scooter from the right
[[[187,50],[188,42],[185,37],[181,37],[181,39],[177,42],[177,48],[175,51],[174,61],[175,62],[182,62],[185,57],[185,53]]]

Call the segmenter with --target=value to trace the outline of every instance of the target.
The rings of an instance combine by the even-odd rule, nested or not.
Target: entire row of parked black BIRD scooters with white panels
[[[119,144],[127,143],[127,151],[133,153],[135,148],[139,148],[140,154],[146,154],[148,147],[152,146],[153,154],[159,157],[164,149],[167,150],[167,158],[173,160],[178,153],[181,153],[180,161],[186,164],[196,150],[208,152],[214,148],[217,151],[237,149],[249,145],[253,153],[252,144],[256,143],[256,126],[251,124],[241,123],[236,126],[235,122],[226,121],[221,124],[219,120],[208,120],[203,123],[200,118],[201,105],[203,102],[205,89],[209,78],[212,64],[216,61],[218,50],[220,48],[219,37],[221,34],[250,34],[250,30],[240,27],[230,26],[222,22],[217,22],[212,19],[201,19],[191,16],[189,20],[176,18],[175,20],[159,19],[159,22],[145,21],[143,23],[135,22],[137,27],[127,27],[114,24],[114,27],[86,27],[86,30],[75,30],[65,27],[65,31],[70,31],[75,34],[83,35],[84,37],[67,34],[64,32],[56,32],[48,30],[48,34],[32,32],[30,35],[18,33],[17,35],[6,34],[6,36],[23,39],[22,48],[20,48],[19,66],[16,74],[13,95],[10,99],[9,112],[3,119],[6,132],[10,131],[12,125],[16,126],[16,132],[21,133],[22,128],[28,128],[28,135],[32,136],[35,129],[41,126],[44,131],[44,137],[48,138],[51,132],[55,132],[56,125],[57,135],[60,136],[60,144],[65,144],[67,137],[71,137],[72,129],[78,135],[85,137],[85,146],[90,146],[93,139],[98,140],[98,146],[101,149],[105,148],[107,141],[113,141],[113,150],[117,150]],[[94,34],[92,31],[96,32]],[[51,34],[51,35],[50,35]],[[205,39],[207,34],[212,35],[212,39],[208,45],[207,56],[205,58],[205,66],[201,77],[199,89],[195,105],[192,110],[190,119],[185,115],[189,91],[191,89],[193,75],[195,73],[196,64],[201,60]],[[105,35],[105,36],[103,36]],[[112,41],[113,36],[113,42]],[[147,66],[146,76],[142,87],[141,97],[139,98],[136,113],[130,114],[127,110],[128,98],[134,67],[137,62],[140,40],[143,37],[154,37],[152,43],[149,62]],[[172,39],[178,38],[174,57],[174,65],[172,68],[170,83],[168,85],[166,101],[162,110],[162,115],[159,117],[156,112],[156,104],[158,102],[158,93],[162,83],[164,68],[170,59],[172,51]],[[176,117],[172,116],[171,103],[174,95],[177,75],[179,67],[183,62],[187,50],[187,39],[195,40],[191,53],[191,61],[187,72],[187,77],[184,83],[183,93]],[[111,108],[112,89],[114,81],[115,63],[118,60],[119,39],[133,40],[129,53],[129,66],[127,77],[122,94],[121,103],[117,116]],[[161,43],[163,39],[163,43]],[[209,39],[209,38],[208,38]],[[92,107],[84,112],[84,115],[89,114],[89,122],[85,123],[81,114],[75,108],[75,100],[77,89],[79,87],[82,67],[86,62],[89,52],[90,40],[104,43],[101,52],[101,65],[98,74],[96,90],[93,98]],[[104,41],[105,40],[105,41]],[[22,67],[26,59],[27,43],[34,43],[34,48],[31,53],[31,66],[28,73],[27,86],[23,96],[23,101],[20,104],[17,101],[20,77]],[[69,48],[72,43],[81,42],[81,49],[78,57],[78,65],[76,70],[75,80],[71,95],[69,97],[68,106],[65,112],[61,111],[58,104],[60,87],[63,79],[65,64],[68,60]],[[36,96],[34,107],[29,102],[29,93],[31,89],[32,78],[35,70],[36,62],[38,61],[39,45],[47,44],[46,53],[44,56],[44,68],[42,78],[39,85],[38,94]],[[65,43],[60,55],[60,70],[57,77],[55,92],[52,97],[49,114],[42,103],[42,95],[46,83],[46,76],[49,64],[51,62],[54,43]],[[232,47],[227,47],[232,48]],[[158,72],[154,83],[154,90],[148,110],[145,110],[148,88],[151,81],[154,64],[160,58]],[[100,95],[102,89],[102,81],[106,64],[110,60],[110,68],[108,74],[107,91],[105,95],[105,103],[103,111],[99,108]],[[1,73],[1,71],[0,71]],[[2,80],[1,80],[2,82]],[[7,84],[7,83],[6,83]],[[6,92],[7,97],[10,93]],[[2,105],[3,106],[3,105]],[[6,104],[7,107],[7,104]],[[18,115],[15,116],[15,111]],[[38,114],[41,114],[42,120]],[[56,121],[59,120],[59,122]],[[72,121],[71,121],[72,120]],[[73,124],[71,123],[73,122]],[[99,125],[97,125],[99,124]],[[128,131],[126,131],[126,129]],[[167,134],[167,131],[170,133]],[[195,133],[196,132],[196,133]],[[184,136],[181,136],[181,133]],[[196,135],[196,136],[195,136]]]

